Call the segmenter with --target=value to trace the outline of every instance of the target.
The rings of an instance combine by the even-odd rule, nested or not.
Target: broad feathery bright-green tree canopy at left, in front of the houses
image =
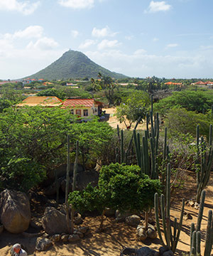
[[[23,107],[6,109],[0,114],[0,178],[4,188],[16,184],[26,188],[23,174],[33,177],[35,183],[43,173],[54,169],[66,159],[65,138],[70,134],[70,144],[80,140],[80,160],[93,165],[101,159],[102,149],[111,139],[112,129],[107,122],[76,123],[69,109],[58,107]],[[72,158],[75,157],[75,147]],[[83,161],[84,155],[84,161]],[[19,162],[20,161],[20,162]],[[23,168],[21,174],[20,166]],[[26,170],[26,171],[25,171]],[[32,176],[31,176],[32,172]],[[36,175],[40,178],[36,178]],[[31,178],[31,182],[34,182]],[[25,184],[26,183],[26,184]],[[31,183],[33,186],[34,183]],[[16,186],[14,186],[16,189]]]

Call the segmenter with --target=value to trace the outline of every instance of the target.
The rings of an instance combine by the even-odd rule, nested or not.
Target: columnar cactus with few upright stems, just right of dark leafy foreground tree
[[[178,245],[178,240],[180,238],[180,231],[182,228],[182,218],[184,212],[185,199],[182,200],[182,210],[180,213],[180,222],[178,223],[177,218],[174,219],[173,232],[170,225],[170,164],[168,164],[167,169],[167,178],[166,178],[166,197],[162,194],[160,196],[160,209],[161,217],[163,223],[163,233],[165,237],[165,242],[163,240],[161,230],[160,230],[160,221],[159,221],[159,207],[158,207],[158,193],[155,193],[155,220],[158,230],[158,235],[162,245],[168,246],[170,250],[175,253],[176,247]]]

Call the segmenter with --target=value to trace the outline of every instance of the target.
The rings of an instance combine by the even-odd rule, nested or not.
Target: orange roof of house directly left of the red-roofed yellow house
[[[62,105],[62,100],[55,96],[30,96],[23,102],[16,105],[16,107],[24,106],[43,106],[43,107],[59,107]]]

